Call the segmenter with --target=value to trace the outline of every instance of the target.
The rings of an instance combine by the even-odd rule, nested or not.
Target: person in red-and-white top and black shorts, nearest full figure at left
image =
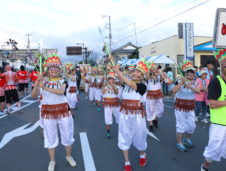
[[[22,113],[20,107],[20,100],[19,95],[17,92],[16,82],[18,82],[17,73],[11,70],[9,64],[5,67],[6,72],[1,74],[1,76],[5,77],[6,86],[5,86],[5,97],[6,97],[6,104],[7,104],[7,114],[10,114],[10,105],[14,101],[17,104],[19,114]]]

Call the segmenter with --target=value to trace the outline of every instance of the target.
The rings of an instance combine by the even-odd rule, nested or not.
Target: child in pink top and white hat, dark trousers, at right
[[[206,119],[206,113],[207,113],[206,98],[207,98],[209,80],[206,79],[207,73],[205,70],[202,70],[200,72],[200,76],[201,78],[198,78],[196,80],[198,87],[200,87],[200,93],[195,94],[195,115],[196,115],[195,120],[198,121],[199,113],[202,110],[201,121],[204,123],[208,123]]]

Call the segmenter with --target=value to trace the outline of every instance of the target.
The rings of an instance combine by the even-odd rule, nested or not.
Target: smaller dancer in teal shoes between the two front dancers
[[[107,83],[102,87],[104,118],[107,129],[107,138],[111,138],[110,125],[113,123],[112,115],[118,124],[120,112],[118,101],[118,87],[115,84],[115,73],[110,71],[107,76]]]

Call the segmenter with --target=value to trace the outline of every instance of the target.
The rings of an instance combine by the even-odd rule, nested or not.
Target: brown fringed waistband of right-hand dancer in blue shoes
[[[192,111],[195,109],[195,100],[185,100],[177,98],[174,108],[183,112]]]

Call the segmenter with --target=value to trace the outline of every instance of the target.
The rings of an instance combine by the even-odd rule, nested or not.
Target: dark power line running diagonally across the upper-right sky
[[[209,1],[210,1],[210,0],[206,0],[206,1],[202,2],[202,3],[200,3],[200,4],[197,4],[197,5],[195,5],[195,6],[191,7],[191,8],[186,9],[185,11],[179,12],[179,13],[177,13],[177,14],[171,16],[171,17],[168,17],[168,18],[166,18],[166,19],[164,19],[164,20],[162,20],[162,21],[160,21],[160,22],[154,24],[154,25],[151,25],[151,26],[149,26],[149,27],[147,27],[147,28],[145,28],[145,29],[143,29],[143,30],[140,30],[140,31],[137,32],[137,35],[140,34],[140,33],[145,32],[145,31],[147,31],[147,30],[149,30],[149,29],[151,29],[151,28],[153,28],[153,27],[156,27],[156,26],[158,26],[158,25],[160,25],[160,24],[162,24],[162,23],[164,23],[164,22],[166,22],[166,21],[168,21],[168,20],[170,20],[170,19],[172,19],[172,18],[175,18],[175,17],[177,17],[177,16],[179,16],[179,15],[182,15],[182,14],[184,14],[184,13],[190,11],[190,10],[193,10],[193,9],[196,8],[196,7],[199,7],[199,6],[201,6],[201,5],[204,5],[205,3],[209,2]],[[118,41],[115,41],[114,43],[121,42],[121,41],[126,40],[126,39],[128,39],[128,38],[130,38],[130,37],[133,37],[133,36],[134,36],[133,34],[128,35],[128,36],[126,36],[126,37],[124,37],[124,38],[122,38],[122,39],[120,39],[120,40],[118,40]]]

